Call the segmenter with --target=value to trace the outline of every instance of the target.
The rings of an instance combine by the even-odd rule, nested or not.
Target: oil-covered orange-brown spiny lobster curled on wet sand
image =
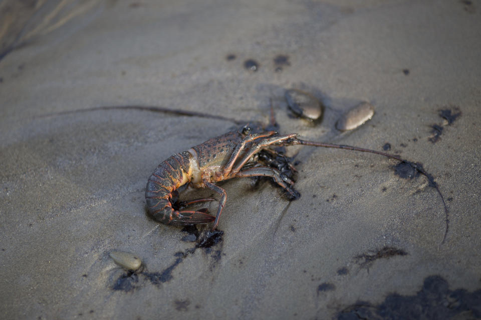
[[[187,151],[174,154],[160,163],[148,179],[145,190],[148,212],[154,220],[168,225],[200,224],[214,221],[212,225],[212,230],[214,230],[217,227],[227,198],[225,190],[216,185],[215,182],[233,177],[267,176],[271,177],[288,193],[295,192],[293,180],[276,168],[259,166],[259,164],[246,164],[252,164],[255,161],[255,155],[261,150],[276,152],[270,149],[270,146],[296,144],[343,148],[380,154],[408,163],[418,172],[432,180],[432,177],[424,172],[422,166],[403,160],[397,155],[349,145],[306,141],[299,139],[297,133],[286,135],[279,135],[276,131],[255,133],[251,126],[244,125],[237,131],[230,131],[211,138],[193,146]],[[435,183],[433,180],[432,182]],[[207,209],[189,211],[176,210],[172,207],[172,198],[176,192],[175,190],[186,183],[190,183],[197,188],[207,187],[220,194],[215,217],[207,214]],[[439,194],[441,195],[440,192]],[[441,199],[444,202],[442,195]],[[212,199],[199,199],[193,202],[202,200],[208,201]]]

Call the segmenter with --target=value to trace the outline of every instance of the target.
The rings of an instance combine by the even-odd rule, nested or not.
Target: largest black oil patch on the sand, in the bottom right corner
[[[390,293],[380,304],[357,301],[341,310],[338,320],[365,319],[479,319],[481,318],[481,289],[449,289],[439,275],[424,279],[422,288],[414,295]]]

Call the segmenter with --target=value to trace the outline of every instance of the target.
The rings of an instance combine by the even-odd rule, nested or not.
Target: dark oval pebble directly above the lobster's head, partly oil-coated
[[[287,104],[299,116],[312,120],[322,115],[322,104],[312,94],[297,89],[286,90]]]

